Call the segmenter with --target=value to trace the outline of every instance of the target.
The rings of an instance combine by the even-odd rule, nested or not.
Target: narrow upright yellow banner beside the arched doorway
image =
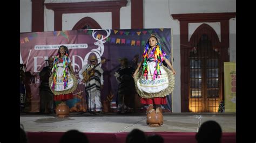
[[[235,62],[224,62],[225,112],[236,112],[236,83]]]

